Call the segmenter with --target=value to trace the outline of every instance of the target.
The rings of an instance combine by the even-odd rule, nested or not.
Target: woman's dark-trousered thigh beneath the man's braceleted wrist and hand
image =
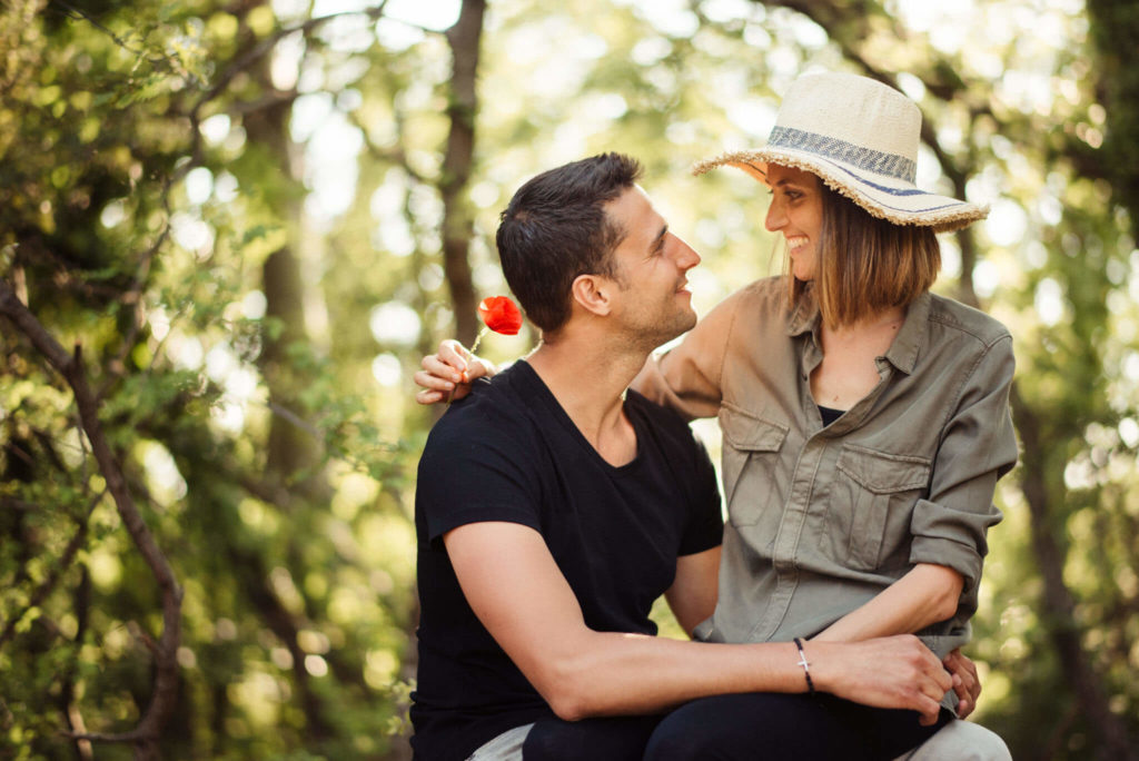
[[[872,709],[830,695],[720,695],[666,715],[645,761],[888,761],[920,745],[952,715],[923,727],[915,711]]]

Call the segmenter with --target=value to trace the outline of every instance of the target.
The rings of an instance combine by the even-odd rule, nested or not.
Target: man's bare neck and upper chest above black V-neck
[[[544,341],[526,361],[593,449],[611,465],[637,456],[637,437],[624,417],[624,393],[647,353],[612,349],[590,336]]]

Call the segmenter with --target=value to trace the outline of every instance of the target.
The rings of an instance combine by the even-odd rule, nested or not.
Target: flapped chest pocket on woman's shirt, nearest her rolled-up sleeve
[[[909,545],[910,513],[929,483],[931,461],[847,443],[837,467],[828,521],[835,558],[872,571]]]

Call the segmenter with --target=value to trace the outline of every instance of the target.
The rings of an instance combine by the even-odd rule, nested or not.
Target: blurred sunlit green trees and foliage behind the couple
[[[498,211],[634,154],[706,311],[780,262],[688,166],[827,68],[993,207],[937,285],[1018,357],[976,719],[1136,758],[1137,39],[1130,0],[0,0],[0,756],[408,758],[410,376],[506,292]]]

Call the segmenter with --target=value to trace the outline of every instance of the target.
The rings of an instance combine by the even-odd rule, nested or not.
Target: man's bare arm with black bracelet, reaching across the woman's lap
[[[790,643],[718,645],[590,630],[533,529],[470,523],[443,541],[472,609],[563,719],[653,713],[726,693],[806,692]],[[928,721],[951,685],[911,636],[806,648],[817,689],[916,710]]]

